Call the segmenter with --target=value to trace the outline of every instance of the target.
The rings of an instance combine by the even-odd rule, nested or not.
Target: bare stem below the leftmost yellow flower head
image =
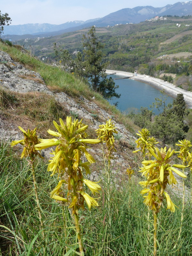
[[[35,177],[35,168],[34,168],[34,159],[31,159],[32,164],[31,164],[31,171],[33,174],[33,184],[34,184],[34,189],[35,189],[35,196],[36,196],[36,203],[37,203],[37,209],[38,209],[38,214],[39,214],[39,220],[41,223],[41,228],[42,228],[42,236],[43,236],[43,240],[44,240],[44,255],[45,255],[45,233],[44,233],[44,223],[43,223],[43,218],[42,218],[42,214],[41,214],[41,207],[40,207],[40,203],[39,203],[39,196],[37,193],[37,182],[36,182],[36,177]]]

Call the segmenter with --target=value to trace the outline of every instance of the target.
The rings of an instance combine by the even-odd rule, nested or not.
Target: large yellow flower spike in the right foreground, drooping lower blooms
[[[143,167],[139,172],[144,175],[147,180],[141,181],[140,185],[144,188],[140,191],[145,198],[144,203],[148,205],[149,209],[154,212],[159,212],[161,205],[163,204],[164,198],[167,202],[167,209],[170,209],[171,212],[175,212],[175,204],[172,203],[170,196],[165,192],[167,184],[172,185],[176,184],[177,181],[173,175],[173,172],[177,173],[182,178],[187,178],[185,174],[178,171],[176,168],[186,168],[185,165],[181,164],[170,164],[171,156],[174,154],[174,150],[171,151],[171,148],[166,150],[166,147],[149,149],[149,152],[152,156],[155,157],[155,160],[143,161]]]

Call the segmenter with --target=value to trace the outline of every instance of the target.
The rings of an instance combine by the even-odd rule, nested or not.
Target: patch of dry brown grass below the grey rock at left
[[[53,120],[65,119],[69,114],[64,105],[45,93],[6,92],[6,98],[11,100],[0,104],[1,118],[7,124],[20,125],[24,129],[37,127],[44,138],[48,136],[48,128],[53,128]]]

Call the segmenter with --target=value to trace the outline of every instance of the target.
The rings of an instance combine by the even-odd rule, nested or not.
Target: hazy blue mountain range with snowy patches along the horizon
[[[26,35],[30,34],[30,38],[37,36],[56,36],[66,32],[79,30],[95,25],[96,27],[114,26],[116,24],[139,23],[154,16],[192,15],[192,1],[178,2],[175,4],[167,4],[164,7],[153,6],[137,6],[134,8],[124,8],[116,12],[112,12],[103,18],[92,20],[75,20],[68,21],[60,25],[44,24],[23,24],[4,26],[4,35]],[[27,36],[27,35],[26,35]],[[29,36],[28,36],[29,38]]]

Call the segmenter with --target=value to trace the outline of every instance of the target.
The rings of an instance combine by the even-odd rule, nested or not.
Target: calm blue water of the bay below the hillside
[[[114,78],[121,78],[123,76],[110,75]],[[109,77],[109,76],[108,76]],[[130,111],[139,112],[140,107],[147,107],[155,102],[155,98],[160,98],[162,95],[159,90],[133,79],[115,79],[115,84],[119,85],[116,92],[121,94],[121,97],[116,100],[109,100],[111,104],[118,101],[117,108],[122,112],[129,113]],[[166,105],[172,103],[173,98],[167,95]],[[154,109],[155,114],[158,114],[158,110]]]

